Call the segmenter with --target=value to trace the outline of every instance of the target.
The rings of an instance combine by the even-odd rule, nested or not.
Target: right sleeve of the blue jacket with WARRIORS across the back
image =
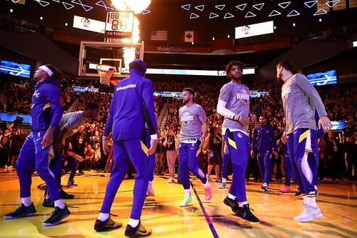
[[[143,112],[151,139],[158,139],[154,109],[154,89],[150,80],[145,80],[142,91]]]

